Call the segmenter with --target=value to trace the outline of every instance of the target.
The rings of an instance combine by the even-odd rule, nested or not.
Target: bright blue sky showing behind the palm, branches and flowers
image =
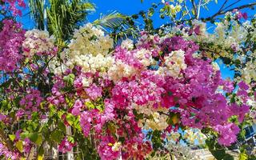
[[[235,1],[236,0],[230,0],[227,3],[227,5]],[[97,6],[97,10],[88,16],[89,22],[92,22],[95,19],[99,18],[101,14],[107,14],[113,11],[118,11],[122,14],[127,14],[127,15],[138,14],[140,10],[149,9],[153,2],[158,3],[158,2],[161,2],[161,0],[144,0],[143,3],[141,2],[141,0],[91,0],[91,2],[93,2]],[[238,2],[236,6],[240,6],[250,2],[255,2],[255,0],[241,0],[241,2]],[[218,4],[216,4],[214,1],[210,2],[209,4],[210,10],[202,10],[201,17],[206,18],[216,13],[220,8],[220,6],[222,6],[222,3],[223,3],[223,0],[218,0]],[[249,15],[256,14],[255,10],[246,9],[243,11],[246,11]],[[26,16],[24,16],[22,19],[19,19],[19,21],[23,23],[26,29],[32,29],[34,28],[34,22],[33,20],[30,19],[30,16],[27,13],[29,13],[28,9],[23,10],[23,14],[25,14]],[[168,18],[164,20],[159,18],[159,14],[154,14],[153,20],[154,20],[154,27],[162,26],[163,24],[170,22]],[[222,65],[221,62],[218,62],[218,64],[222,71],[222,78],[233,78],[234,72],[230,71],[230,68],[227,68],[225,65]]]

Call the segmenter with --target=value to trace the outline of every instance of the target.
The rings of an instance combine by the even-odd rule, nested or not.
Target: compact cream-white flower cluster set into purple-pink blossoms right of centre
[[[160,74],[178,78],[181,70],[186,69],[184,53],[183,50],[172,51],[164,58],[166,66],[159,67],[158,72]]]

